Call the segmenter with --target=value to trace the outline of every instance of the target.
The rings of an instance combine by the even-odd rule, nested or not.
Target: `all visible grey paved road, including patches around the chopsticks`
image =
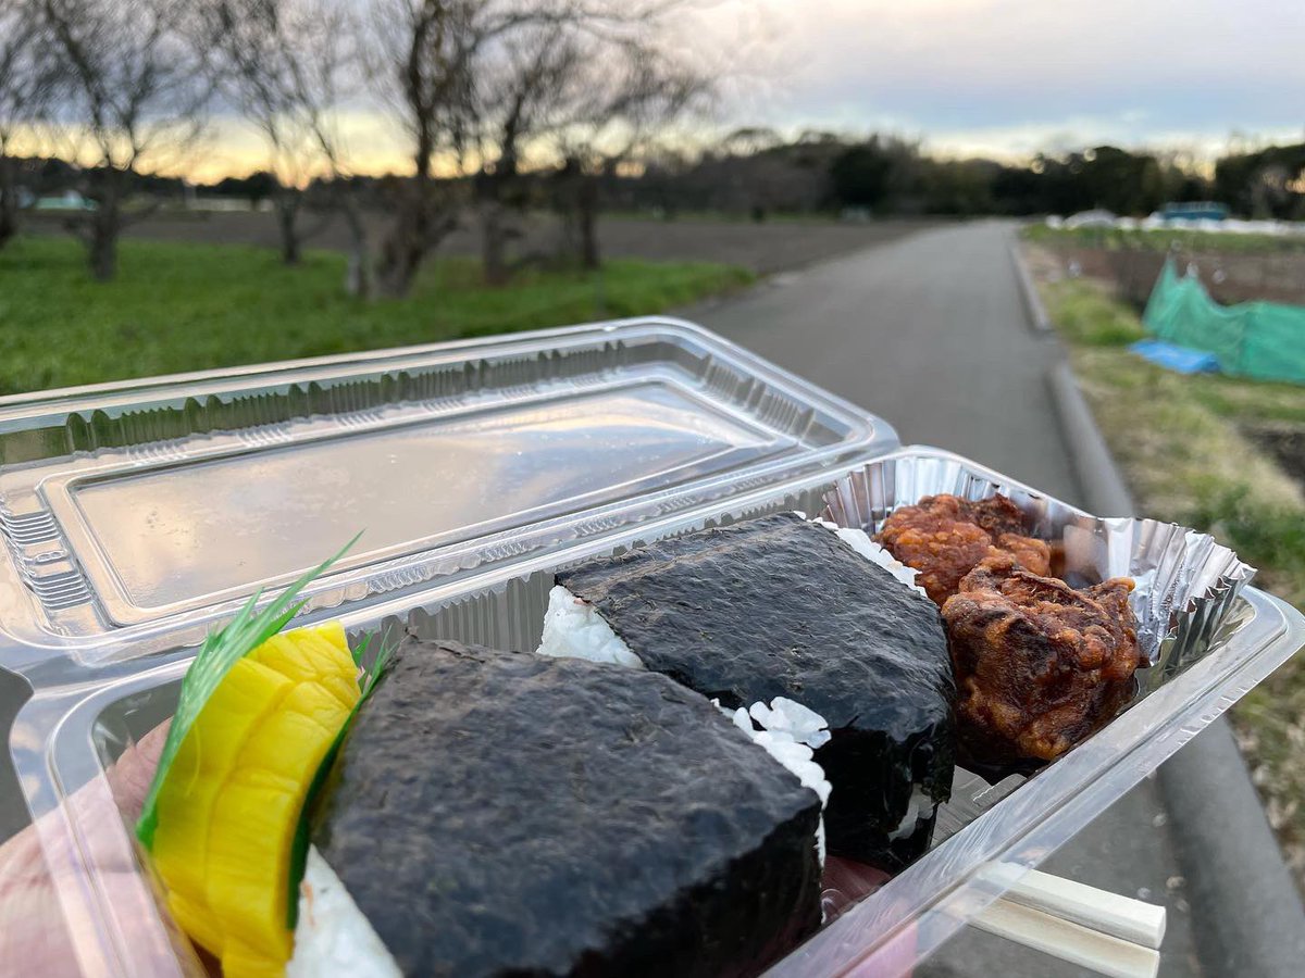
[[[1044,378],[1056,349],[1024,325],[1009,235],[997,223],[921,231],[685,316],[882,415],[904,442],[959,451],[1074,502]],[[1165,902],[1161,974],[1201,974],[1165,822],[1143,782],[1044,868]],[[1087,973],[964,931],[919,974]]]

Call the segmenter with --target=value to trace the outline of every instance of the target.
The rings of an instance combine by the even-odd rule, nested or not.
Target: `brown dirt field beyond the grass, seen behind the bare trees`
[[[305,227],[316,219],[308,215]],[[55,220],[34,222],[44,230],[59,230]],[[870,224],[833,223],[728,223],[666,222],[609,218],[599,223],[599,241],[613,258],[649,258],[676,261],[713,261],[741,265],[769,275],[801,267],[847,252],[891,241],[930,223],[883,220]],[[376,220],[375,240],[380,240],[382,223]],[[205,241],[210,244],[257,244],[277,246],[277,226],[271,214],[185,214],[142,222],[128,232],[133,237],[159,241]],[[530,219],[522,249],[547,248],[557,236],[556,222],[547,215]],[[326,224],[308,243],[312,248],[343,248],[345,228],[339,222]],[[442,245],[445,254],[475,254],[479,236],[471,228],[454,232]]]

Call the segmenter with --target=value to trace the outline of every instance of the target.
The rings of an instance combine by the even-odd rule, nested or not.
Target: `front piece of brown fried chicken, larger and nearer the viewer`
[[[1009,553],[966,575],[942,619],[971,758],[1052,760],[1114,717],[1141,660],[1131,589],[1129,578],[1071,588]]]

